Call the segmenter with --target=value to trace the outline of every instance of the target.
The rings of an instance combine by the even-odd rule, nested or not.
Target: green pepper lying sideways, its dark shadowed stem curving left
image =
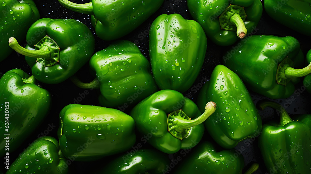
[[[76,76],[71,80],[80,88],[100,88],[99,102],[104,107],[124,110],[158,90],[148,60],[130,41],[116,41],[95,53],[90,67],[96,72],[95,80],[82,83]]]

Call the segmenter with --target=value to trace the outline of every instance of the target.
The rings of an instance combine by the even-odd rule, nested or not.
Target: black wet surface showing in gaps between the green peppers
[[[39,12],[40,12],[40,18],[54,18],[54,19],[64,19],[64,18],[72,18],[79,20],[80,22],[87,25],[91,31],[94,33],[95,36],[95,52],[100,51],[104,48],[106,48],[112,41],[103,41],[100,38],[97,37],[95,34],[94,28],[91,26],[91,20],[89,15],[79,14],[76,12],[73,12],[71,10],[67,10],[63,6],[59,4],[57,0],[53,0],[53,2],[50,1],[40,1],[40,0],[34,0],[36,3]],[[89,2],[89,0],[76,0],[76,3],[86,3]],[[263,1],[262,1],[263,2]],[[130,34],[120,38],[120,39],[126,39],[132,42],[137,43],[137,46],[142,51],[142,54],[149,59],[149,37],[142,32],[148,33],[148,28],[151,25],[151,23],[156,19],[157,16],[160,14],[173,14],[173,13],[179,13],[182,15],[185,19],[193,20],[192,16],[190,15],[186,0],[165,0],[163,5],[160,7],[156,13],[154,13],[152,16],[148,18],[142,25],[140,25],[136,30],[132,31]],[[306,55],[306,53],[311,48],[310,37],[307,37],[305,35],[296,33],[294,30],[291,30],[276,21],[272,20],[267,13],[263,10],[262,18],[259,21],[259,24],[257,26],[259,29],[256,33],[256,35],[275,35],[275,36],[293,36],[301,44],[301,49]],[[26,40],[24,43],[20,43],[21,45],[24,45],[26,43]],[[190,99],[192,99],[194,102],[197,100],[197,96],[199,94],[200,89],[202,88],[201,80],[202,78],[210,78],[211,72],[213,71],[214,67],[216,65],[221,64],[222,56],[224,53],[227,52],[228,49],[230,49],[232,46],[228,47],[220,47],[215,45],[211,42],[210,39],[207,40],[207,52],[205,56],[205,61],[202,67],[202,70],[197,77],[197,80],[193,83],[193,86],[184,93],[184,96],[192,96]],[[14,69],[14,68],[20,68],[31,75],[31,69],[30,66],[25,61],[24,56],[18,56],[16,52],[13,52],[9,57],[7,57],[4,61],[0,63],[0,73],[5,73],[8,70]],[[77,76],[84,82],[90,82],[93,80],[93,76],[89,73],[89,65],[86,63],[85,66],[81,68],[77,72]],[[28,145],[33,142],[35,139],[38,138],[38,134],[41,134],[44,132],[46,133],[47,128],[49,125],[53,124],[56,125],[56,127],[48,132],[48,136],[53,136],[57,138],[57,129],[58,129],[58,117],[59,112],[62,110],[62,108],[70,103],[74,103],[78,97],[84,96],[84,98],[78,103],[78,104],[84,104],[84,105],[97,105],[98,103],[98,91],[97,90],[88,90],[89,94],[83,95],[85,89],[79,89],[75,85],[72,84],[70,80],[66,80],[60,84],[57,85],[48,85],[43,84],[41,82],[38,82],[39,85],[42,86],[42,88],[47,89],[52,97],[52,107],[50,109],[50,112],[46,119],[43,121],[43,123],[36,129],[35,133],[32,133],[29,138],[21,145],[19,149],[17,149],[15,152],[10,153],[10,165],[13,162],[13,159],[16,159],[19,153],[23,151],[23,149],[26,149]],[[301,88],[302,80],[296,85],[297,89],[304,89]],[[266,97],[256,94],[254,92],[250,92],[253,101],[257,103],[258,100],[264,99]],[[298,95],[299,94],[299,95]],[[310,94],[307,91],[302,91],[301,93],[293,94],[294,100],[288,100],[288,99],[278,99],[275,100],[282,105],[288,106],[286,109],[290,114],[303,114],[303,113],[310,113],[311,107],[309,107],[309,97]],[[80,99],[80,98],[79,98]],[[77,103],[77,102],[76,102]],[[129,113],[131,108],[128,108],[124,112]],[[259,111],[263,123],[267,123],[270,120],[279,120],[279,117],[274,113],[274,111],[270,108],[267,108],[265,111]],[[137,136],[137,143],[140,142],[141,137]],[[210,140],[213,141],[208,135],[207,132],[205,132],[203,140]],[[242,146],[246,147],[246,150],[242,151],[242,154],[245,159],[245,168],[248,168],[250,164],[253,162],[257,162],[260,164],[260,168],[256,174],[259,173],[266,173],[268,172],[266,167],[264,166],[264,163],[262,161],[261,153],[258,148],[258,140],[252,141],[252,143],[248,146],[245,144],[245,142],[240,142],[238,146],[235,147],[236,150],[239,150],[242,148]],[[149,144],[143,144],[143,148],[152,148]],[[130,149],[131,150],[131,149]],[[222,149],[219,149],[222,150]],[[170,159],[176,158],[176,156],[179,156],[180,152],[176,154],[168,155]],[[118,156],[118,155],[117,155]],[[100,167],[104,168],[104,163],[107,161],[110,161],[113,157],[105,157],[102,160],[95,161],[95,162],[72,162],[72,164],[69,165],[72,173],[91,173],[95,169],[98,169]],[[185,157],[187,158],[187,156]],[[3,163],[2,163],[3,164]],[[174,168],[173,168],[174,170]],[[245,170],[244,170],[245,172]]]

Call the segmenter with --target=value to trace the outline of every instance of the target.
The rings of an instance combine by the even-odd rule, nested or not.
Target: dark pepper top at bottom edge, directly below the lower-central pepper
[[[123,154],[111,162],[98,174],[137,174],[152,173],[161,174],[169,165],[169,158],[154,149],[140,149],[134,154]]]

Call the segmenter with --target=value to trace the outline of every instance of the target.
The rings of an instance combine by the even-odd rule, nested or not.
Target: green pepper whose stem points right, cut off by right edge
[[[253,35],[239,42],[224,56],[224,65],[234,71],[248,89],[272,99],[288,98],[295,91],[293,79],[311,72],[304,63],[297,39]]]

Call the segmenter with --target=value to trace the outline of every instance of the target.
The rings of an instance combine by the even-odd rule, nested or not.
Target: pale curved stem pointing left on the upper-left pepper
[[[18,44],[17,40],[13,37],[9,39],[9,46],[14,49],[17,53],[20,53],[24,56],[34,57],[34,58],[50,58],[51,53],[47,46],[42,47],[39,50],[29,50],[21,47]]]

